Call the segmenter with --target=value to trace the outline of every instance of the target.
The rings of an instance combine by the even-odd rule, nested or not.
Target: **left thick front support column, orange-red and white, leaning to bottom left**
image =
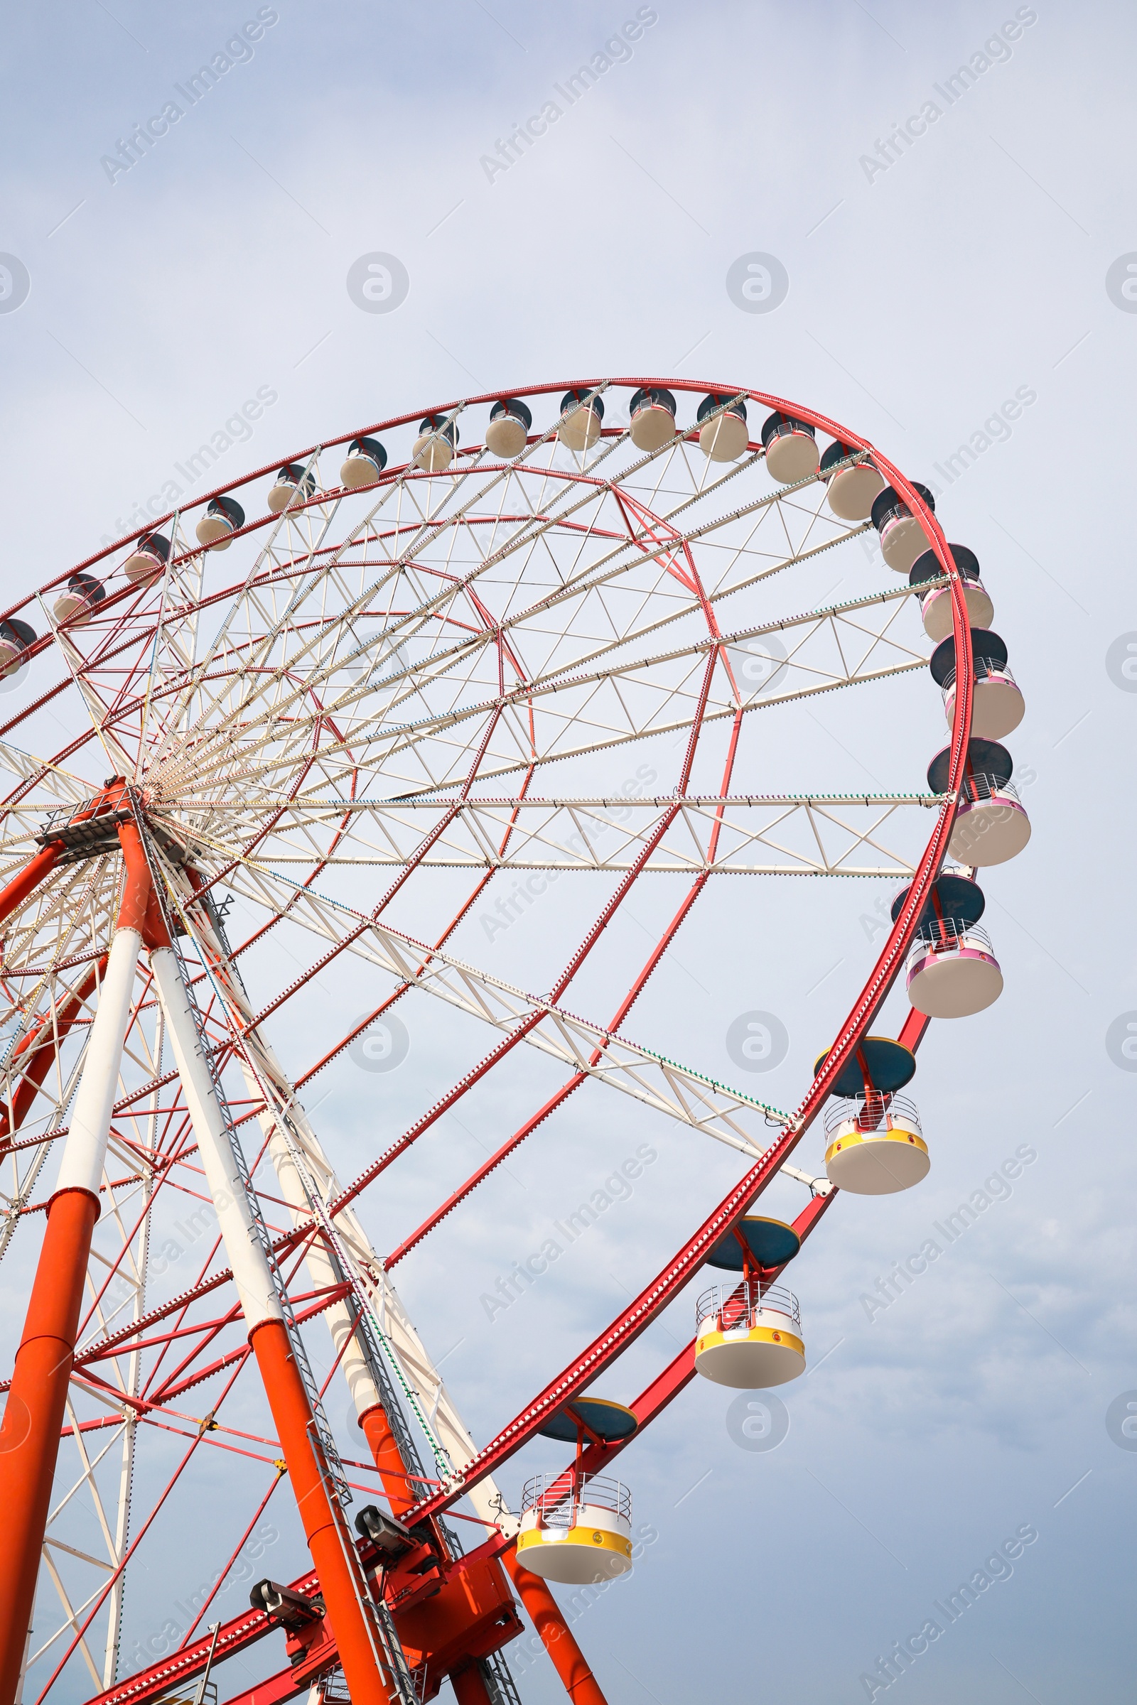
[[[135,837],[135,847],[128,847],[130,835]],[[119,827],[119,841],[126,858],[123,904],[99,1008],[87,1038],[87,1059],[63,1147],[60,1180],[48,1204],[48,1228],[0,1425],[0,1511],[3,1512],[0,1705],[14,1705],[17,1696],[27,1628],[36,1603],[39,1555],[60,1454],[60,1429],[75,1355],[90,1234],[99,1217],[99,1185],[111,1132],[111,1108],[130,1023],[141,921],[150,895],[145,859],[141,871],[136,861],[131,870],[131,851],[141,854],[133,824]],[[31,893],[55,863],[56,852],[55,846],[44,847],[22,876],[9,885],[0,895],[0,916],[15,888],[20,890],[19,899]],[[14,904],[19,902],[10,902],[7,909],[10,910]]]

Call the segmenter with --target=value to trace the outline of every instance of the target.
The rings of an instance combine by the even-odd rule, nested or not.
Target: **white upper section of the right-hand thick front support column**
[[[198,1153],[216,1209],[222,1243],[234,1270],[245,1325],[252,1330],[264,1320],[283,1320],[285,1315],[237,1173],[213,1078],[201,1057],[198,1026],[189,1011],[189,996],[172,948],[155,948],[150,955],[150,965],[174,1050],[174,1064],[186,1091]]]

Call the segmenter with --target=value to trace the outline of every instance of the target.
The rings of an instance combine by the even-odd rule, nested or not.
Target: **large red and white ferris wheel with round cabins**
[[[861,590],[827,604],[835,559]],[[900,1093],[915,1049],[931,1018],[1002,989],[977,873],[1030,824],[992,619],[975,554],[868,440],[748,387],[660,379],[465,397],[309,447],[0,619],[0,1257],[34,1274],[3,1381],[0,1705],[84,1686],[99,1705],[201,1702],[237,1654],[242,1705],[413,1705],[447,1678],[462,1705],[505,1705],[515,1592],[576,1705],[602,1705],[549,1582],[631,1569],[615,1458],[694,1378],[803,1371],[808,1298],[803,1323],[784,1270],[839,1190],[926,1176]],[[903,675],[944,701],[926,788],[759,791],[779,720],[818,694],[885,702]],[[629,762],[648,777],[632,789]],[[718,878],[752,878],[760,907],[753,878],[786,875],[898,888],[793,1113],[627,1025]],[[667,926],[619,974],[605,958],[603,1006],[581,1016],[581,972],[665,878]],[[552,881],[602,902],[535,994],[476,962],[470,921],[503,928]],[[368,1011],[281,1059],[281,1014],[312,1013],[317,1035],[317,979],[348,963]],[[910,1013],[888,1038],[873,1025],[898,979]],[[416,1003],[440,1033],[482,1037],[474,1062],[341,1176],[302,1091],[361,1040],[392,1047]],[[476,1086],[525,1093],[534,1052],[554,1093],[377,1248],[368,1190],[428,1156]],[[733,1151],[733,1183],[479,1444],[394,1269],[581,1089]],[[799,1192],[793,1219],[760,1212],[774,1180]],[[172,1265],[188,1214],[205,1234]],[[603,1396],[690,1284],[690,1344],[631,1405]],[[366,1461],[334,1425],[341,1391]],[[520,1485],[513,1458],[539,1437],[563,1454]],[[216,1451],[247,1473],[244,1507],[210,1512],[211,1587],[176,1637],[131,1647],[128,1592],[147,1591],[148,1548],[176,1545],[179,1500],[208,1502]],[[222,1616],[273,1497],[310,1557]]]

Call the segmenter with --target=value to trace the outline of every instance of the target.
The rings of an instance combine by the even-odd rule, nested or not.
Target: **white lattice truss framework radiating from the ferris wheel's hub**
[[[610,414],[617,397],[619,387]],[[467,411],[448,414],[464,421]],[[728,465],[690,440],[641,455],[615,430],[573,455],[549,431],[515,464],[477,448],[445,474],[404,465],[365,493],[338,489],[338,460],[307,459],[317,494],[280,518],[263,520],[263,498],[239,493],[254,520],[228,554],[201,551],[174,517],[159,580],[131,587],[114,561],[99,564],[107,597],[85,622],[56,627],[51,592],[24,607],[55,648],[34,665],[39,708],[0,730],[12,777],[0,880],[36,852],[51,812],[119,772],[140,789],[170,905],[189,907],[193,864],[216,900],[234,893],[259,914],[254,934],[278,926],[273,939],[286,938],[293,955],[307,934],[312,958],[343,948],[373,967],[377,1006],[404,991],[433,996],[484,1025],[491,1047],[523,1040],[685,1127],[692,1142],[760,1154],[786,1118],[776,1108],[573,1014],[564,997],[528,994],[452,955],[428,873],[469,871],[476,893],[510,873],[902,880],[931,832],[934,796],[750,796],[706,783],[629,796],[597,777],[612,774],[609,752],[638,762],[665,745],[678,776],[684,752],[716,723],[759,738],[786,706],[919,670],[909,587],[796,610],[791,578],[817,558],[832,556],[835,576],[849,563],[863,575],[866,529],[837,522],[818,481],[776,489],[753,448]],[[43,696],[53,658],[65,687]],[[29,750],[56,743],[61,723],[73,731],[63,752]],[[421,939],[382,917],[407,873],[424,897]],[[46,1200],[118,885],[114,852],[61,866],[5,926],[9,1127],[34,1057],[29,1037],[49,1043],[51,1064],[2,1159],[0,1255]],[[413,892],[401,890],[401,916]],[[257,1156],[269,1229],[285,1240],[297,1306],[331,1318],[317,1296],[334,1280],[326,1209],[344,1187],[257,1028],[264,1014],[239,977],[242,943],[230,958],[201,907],[186,919],[194,992]],[[286,1124],[302,1161],[283,1141]],[[29,1678],[39,1683],[101,1598],[77,1652],[95,1690],[114,1679],[116,1572],[141,1528],[131,1485],[147,1432],[174,1429],[193,1449],[230,1437],[216,1410],[245,1352],[232,1291],[223,1279],[210,1287],[225,1257],[211,1246],[205,1197],[143,962],[44,1546],[60,1613],[38,1615]],[[153,1258],[162,1202],[199,1228],[174,1274]],[[351,1308],[370,1311],[445,1480],[474,1442],[355,1205],[338,1211],[334,1231],[348,1272],[336,1318],[349,1333]],[[176,1303],[179,1291],[189,1299]],[[203,1325],[220,1316],[223,1328]],[[269,1465],[268,1485],[271,1441],[249,1449]],[[489,1521],[503,1500],[484,1482],[474,1506]]]

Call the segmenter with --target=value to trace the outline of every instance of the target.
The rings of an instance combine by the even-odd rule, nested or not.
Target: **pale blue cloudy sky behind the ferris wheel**
[[[784,1437],[752,1448],[774,1434],[743,1432],[753,1412],[697,1379],[622,1456],[643,1553],[574,1627],[612,1702],[1132,1696],[1135,31],[1132,9],[1053,0],[73,0],[7,22],[5,602],[138,525],[170,481],[205,489],[186,476],[201,443],[228,479],[385,414],[595,373],[798,399],[929,483],[948,537],[980,558],[1026,699],[1011,745],[1033,835],[987,883],[1006,989],[922,1045],[927,1182],[839,1199],[794,1265],[810,1373],[779,1391]],[[218,55],[228,68],[194,92]],[[590,63],[593,85],[574,85]],[[520,124],[528,142],[510,145]],[[914,723],[907,704],[822,709],[825,738],[791,733],[774,754],[777,786],[921,786],[936,716]],[[776,887],[747,897],[745,924],[736,890],[709,897],[632,1033],[724,1076],[730,1025],[774,1013],[788,1050],[753,1083],[793,1107],[874,962],[881,895],[834,883],[782,907]],[[665,900],[620,928],[648,929]],[[571,934],[551,912],[511,941],[479,941],[474,921],[467,955],[520,980]],[[605,991],[600,965],[578,1009],[600,1016]],[[366,992],[336,1001],[351,1016]],[[893,996],[895,1023],[903,1011]],[[283,1018],[274,1042],[307,1059],[305,1020]],[[467,1038],[430,1016],[413,1043],[384,1079],[392,1122],[465,1059]],[[544,1083],[525,1067],[517,1107],[476,1103],[476,1132]],[[348,1175],[375,1079],[344,1061],[322,1089]],[[479,1439],[663,1263],[695,1187],[721,1195],[733,1176],[648,1115],[605,1113],[602,1096],[573,1113],[561,1146],[527,1151],[406,1263],[401,1289],[435,1354],[453,1345],[447,1374]],[[368,1205],[380,1243],[464,1165],[467,1137],[450,1130]],[[639,1144],[658,1163],[545,1294],[479,1313]],[[984,1192],[1016,1156],[1013,1183]],[[880,1306],[878,1280],[973,1192],[989,1200],[977,1222]],[[684,1299],[605,1395],[636,1395],[689,1315]],[[530,1449],[525,1465],[559,1459]],[[520,1468],[505,1478],[520,1488]],[[220,1540],[184,1521],[186,1567],[203,1572]],[[290,1579],[302,1541],[283,1516],[280,1533],[271,1572]],[[985,1569],[1004,1541],[1014,1560]],[[128,1645],[162,1623],[179,1567],[167,1546],[131,1589]],[[932,1608],[977,1574],[967,1613]],[[881,1678],[929,1618],[943,1632]],[[513,1667],[527,1705],[561,1696],[525,1642]]]

